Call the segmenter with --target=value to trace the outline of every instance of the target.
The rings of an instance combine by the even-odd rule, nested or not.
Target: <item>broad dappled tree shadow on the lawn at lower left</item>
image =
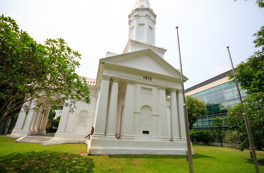
[[[93,172],[93,159],[56,151],[12,153],[0,157],[0,172]]]

